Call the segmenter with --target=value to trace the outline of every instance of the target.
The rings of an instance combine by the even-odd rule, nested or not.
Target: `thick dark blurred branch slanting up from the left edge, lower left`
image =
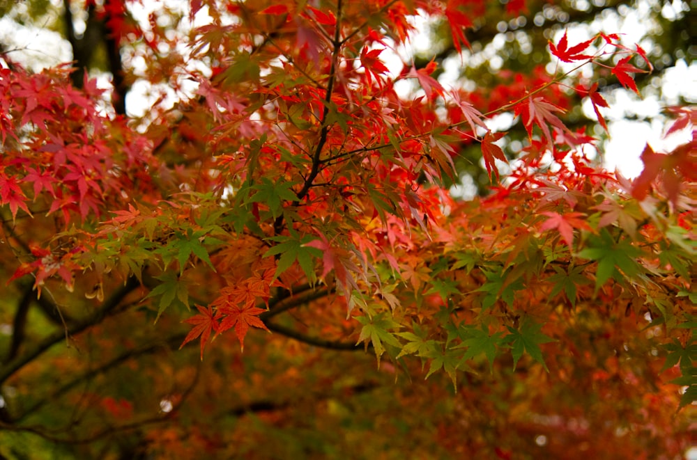
[[[86,328],[95,326],[102,322],[105,317],[118,306],[119,303],[127,296],[130,292],[138,287],[138,281],[136,278],[128,278],[125,285],[116,290],[109,299],[102,303],[101,308],[95,310],[91,315],[84,319],[78,319],[74,324],[68,327],[67,331],[56,331],[50,335],[47,335],[40,343],[33,347],[33,349],[27,351],[22,356],[17,356],[17,358],[11,360],[9,363],[3,364],[0,367],[0,383],[6,381],[10,376],[15,374],[18,370],[22,369],[25,365],[31,363],[31,361],[43,354],[44,351],[51,348],[54,344],[61,342],[66,335],[75,335],[84,331]]]

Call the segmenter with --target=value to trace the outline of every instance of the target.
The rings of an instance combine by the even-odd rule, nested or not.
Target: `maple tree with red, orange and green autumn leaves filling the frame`
[[[696,111],[667,109],[693,137],[635,180],[567,118],[586,100],[604,127],[599,84],[639,93],[642,47],[565,33],[557,72],[466,90],[388,68],[413,15],[460,52],[537,2],[85,3],[78,70],[0,69],[1,454],[685,452]],[[128,116],[137,80],[176,102]],[[491,187],[454,200],[473,155]]]

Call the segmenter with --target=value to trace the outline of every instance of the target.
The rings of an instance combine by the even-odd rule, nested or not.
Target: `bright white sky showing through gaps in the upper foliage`
[[[648,8],[651,7],[651,4],[656,1],[657,0],[641,1],[639,3],[639,8],[637,10],[629,10],[625,17],[606,15],[602,22],[593,22],[590,24],[590,27],[576,26],[569,29],[569,43],[574,44],[587,40],[597,31],[603,30],[613,33],[622,33],[628,45],[639,42],[646,51],[650,52],[651,44],[646,42],[643,38],[643,34],[647,27],[650,26],[644,16],[648,13]],[[56,6],[60,6],[62,0],[52,0],[52,2]],[[588,3],[586,0],[579,0],[579,3],[583,2]],[[183,6],[187,4],[187,2],[173,2],[171,0],[167,0],[166,3],[170,6]],[[22,8],[21,3],[18,3],[18,8]],[[139,6],[138,8],[138,16],[144,18],[143,25],[147,28],[147,15],[151,10],[159,8],[158,1],[144,0],[143,6]],[[673,0],[672,5],[666,5],[661,11],[661,14],[664,15],[664,17],[671,18],[675,17],[675,15],[685,14],[683,11],[685,8],[689,10],[687,3]],[[206,17],[207,15],[204,9],[197,14],[194,22],[199,24],[195,25],[198,26],[203,24],[206,21]],[[535,19],[536,22],[537,19],[539,18]],[[75,24],[76,29],[79,31],[80,26],[84,27],[83,24],[84,23],[80,24],[79,18],[77,18]],[[417,19],[416,24],[423,27],[424,21],[422,19]],[[562,31],[559,31],[557,35],[553,37],[553,40],[555,42],[558,41],[561,35]],[[497,48],[500,49],[506,46],[506,42],[503,40],[503,34],[501,34],[500,38],[502,38],[502,40],[495,39],[493,43],[489,45],[488,49],[482,50],[479,53],[481,57],[476,55],[468,56],[468,60],[485,59],[491,62],[490,66],[493,68],[492,70],[495,70],[503,61],[500,58],[496,58],[494,54]],[[0,18],[0,40],[5,44],[20,49],[20,51],[13,54],[13,58],[31,65],[34,69],[69,61],[71,58],[70,45],[66,40],[63,40],[58,33],[46,31],[40,27],[17,27],[17,24],[15,24],[10,17]],[[642,42],[641,40],[644,41]],[[412,49],[404,49],[404,47],[397,49],[398,54],[395,54],[390,59],[388,66],[395,69],[395,74],[401,70],[402,61],[408,61],[408,56],[413,50],[427,53],[431,48],[431,44],[426,34],[420,34],[413,38],[411,47]],[[381,57],[386,56],[386,53],[381,55]],[[143,65],[145,65],[145,63],[143,63]],[[459,65],[459,58],[455,58],[452,62],[446,61],[444,63],[445,72],[443,72],[441,76],[441,83],[444,86],[454,86],[454,84],[456,84],[455,79],[457,78]],[[101,86],[108,86],[107,74],[97,75],[97,77],[102,80]],[[657,79],[654,83],[657,88],[658,86],[660,87],[663,100],[659,100],[657,91],[651,91],[650,88],[649,94],[646,94],[643,99],[637,97],[634,93],[631,93],[631,91],[624,89],[615,90],[613,93],[606,95],[606,99],[611,107],[610,109],[603,109],[603,114],[606,120],[608,120],[611,139],[601,148],[604,150],[605,166],[608,170],[615,170],[615,168],[618,168],[626,177],[636,177],[641,173],[641,168],[643,166],[638,157],[646,143],[650,143],[654,150],[661,152],[669,151],[674,148],[675,145],[684,143],[687,138],[689,138],[689,130],[685,130],[682,133],[671,136],[670,139],[664,139],[662,134],[664,132],[664,122],[666,119],[660,116],[659,113],[662,107],[677,103],[679,95],[685,97],[689,102],[697,102],[697,65],[694,63],[687,65],[686,61],[682,59],[676,63],[675,67],[666,70],[662,79]],[[192,87],[191,90],[193,91],[195,88]],[[407,93],[408,88],[404,88],[404,91]],[[149,111],[150,104],[162,93],[167,93],[169,95],[167,98],[168,102],[174,104],[176,95],[171,88],[164,85],[153,88],[145,81],[137,81],[126,100],[129,114],[132,116],[144,115],[144,113]],[[593,113],[590,102],[584,104],[583,109],[589,118],[595,119],[595,113]],[[639,118],[648,118],[651,121],[629,120],[627,119],[628,116],[639,116]],[[510,120],[512,120],[510,116],[500,117],[493,122],[493,125],[495,125],[496,129],[507,129],[507,125],[510,125]],[[472,187],[468,187],[468,189],[471,192]],[[458,191],[456,191],[456,193],[457,192]],[[464,189],[459,190],[459,193],[464,193],[465,196],[469,194],[468,191]]]

